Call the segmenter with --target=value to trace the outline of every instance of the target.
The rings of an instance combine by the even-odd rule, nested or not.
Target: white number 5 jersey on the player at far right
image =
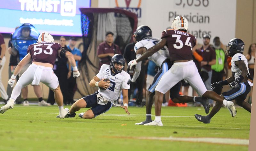
[[[236,61],[243,60],[249,73],[248,61],[242,53],[236,53],[231,59],[231,71],[235,73],[235,79],[241,75],[242,71],[235,65]]]

